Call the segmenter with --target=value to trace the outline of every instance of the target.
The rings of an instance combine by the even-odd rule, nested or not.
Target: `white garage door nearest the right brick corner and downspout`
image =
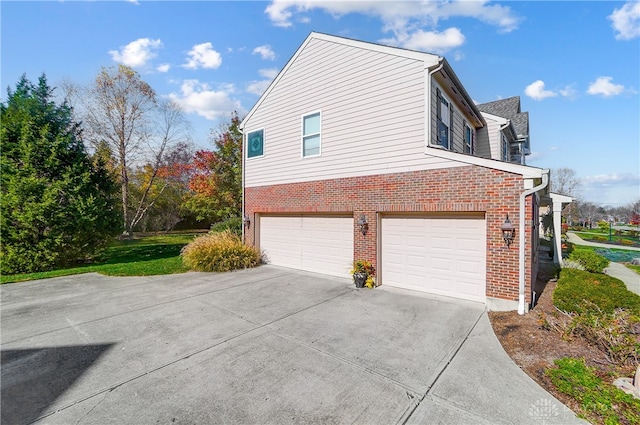
[[[383,285],[484,302],[484,218],[382,219]]]

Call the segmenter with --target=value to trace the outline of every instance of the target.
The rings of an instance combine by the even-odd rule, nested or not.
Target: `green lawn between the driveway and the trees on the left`
[[[108,276],[150,276],[184,273],[180,250],[197,236],[195,233],[143,236],[115,240],[91,264],[40,273],[0,276],[0,284],[97,272]]]

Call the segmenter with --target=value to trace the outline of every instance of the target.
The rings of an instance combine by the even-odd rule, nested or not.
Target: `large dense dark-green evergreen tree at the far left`
[[[114,185],[85,152],[71,108],[46,77],[23,76],[0,104],[0,271],[34,272],[96,253],[116,227]]]

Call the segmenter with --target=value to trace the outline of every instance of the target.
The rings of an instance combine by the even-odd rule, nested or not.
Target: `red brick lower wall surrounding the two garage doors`
[[[522,176],[480,166],[407,173],[379,174],[245,189],[245,213],[252,223],[256,214],[348,214],[354,218],[354,258],[378,266],[377,214],[390,212],[482,212],[487,221],[487,296],[518,299],[518,199]],[[527,199],[525,228],[526,294],[531,293],[532,200]],[[365,214],[369,231],[363,236],[356,224]],[[500,226],[509,214],[516,228],[507,248]],[[255,241],[254,225],[245,229],[248,244]],[[384,282],[383,282],[384,284]]]

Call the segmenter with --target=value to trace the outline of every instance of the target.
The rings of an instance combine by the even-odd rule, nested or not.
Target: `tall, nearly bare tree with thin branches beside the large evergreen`
[[[150,188],[164,158],[179,143],[189,141],[189,122],[177,104],[158,100],[151,86],[124,65],[102,68],[80,101],[85,136],[96,148],[106,144],[115,157],[123,236],[129,237],[154,202]],[[129,173],[142,164],[152,167],[152,177],[133,199]]]

